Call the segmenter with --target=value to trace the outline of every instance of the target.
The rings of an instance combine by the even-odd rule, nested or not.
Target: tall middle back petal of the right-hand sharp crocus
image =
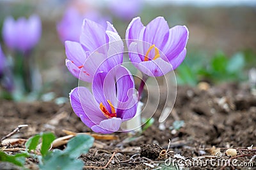
[[[143,41],[162,49],[162,46],[166,44],[168,34],[169,26],[166,20],[163,17],[157,17],[146,26]]]

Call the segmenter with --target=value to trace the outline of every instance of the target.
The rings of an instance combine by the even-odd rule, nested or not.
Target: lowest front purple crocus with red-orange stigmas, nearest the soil
[[[93,78],[92,92],[77,87],[70,92],[70,102],[77,117],[94,132],[109,134],[136,114],[137,97],[134,80],[123,66]]]

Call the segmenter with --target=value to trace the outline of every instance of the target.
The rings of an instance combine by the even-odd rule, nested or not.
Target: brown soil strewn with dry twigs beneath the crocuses
[[[106,169],[157,169],[159,166],[163,167],[164,160],[169,157],[182,161],[199,157],[205,159],[205,155],[214,157],[217,151],[224,155],[228,148],[236,148],[237,155],[241,155],[236,158],[238,162],[251,161],[254,167],[250,168],[256,169],[255,157],[252,159],[253,155],[256,155],[255,147],[252,147],[252,150],[247,149],[248,146],[256,146],[256,96],[252,94],[249,85],[228,83],[204,90],[200,87],[178,87],[172,114],[161,125],[161,130],[157,121],[160,113],[161,110],[157,109],[154,124],[142,134],[116,132],[118,139],[95,139],[95,145],[79,159],[84,161],[84,166],[89,167],[88,169],[93,169],[90,166],[105,166],[116,151],[115,157]],[[63,129],[72,132],[92,132],[76,117],[69,103],[57,105],[42,101],[0,101],[0,117],[0,138],[21,124],[28,124],[28,127],[24,127],[11,138],[28,139],[45,131],[54,132],[56,137],[66,136]],[[180,129],[169,129],[177,120],[184,120],[184,125]],[[167,154],[156,157],[159,152],[164,153],[163,150]],[[248,156],[245,157],[244,154]],[[228,159],[227,156],[224,157]],[[29,166],[31,161],[36,163],[36,160],[30,159],[26,163],[27,166],[35,169]],[[3,163],[0,164],[0,167],[3,167]],[[163,167],[168,168],[170,169],[170,166]],[[207,165],[190,168],[234,167]],[[236,169],[248,167],[237,166]]]

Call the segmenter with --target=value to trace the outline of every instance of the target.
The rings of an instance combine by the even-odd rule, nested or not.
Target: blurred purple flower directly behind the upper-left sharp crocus
[[[61,41],[79,41],[81,27],[84,18],[93,20],[99,24],[106,24],[108,17],[102,17],[97,11],[80,13],[76,8],[68,8],[60,22],[57,24],[57,31]]]

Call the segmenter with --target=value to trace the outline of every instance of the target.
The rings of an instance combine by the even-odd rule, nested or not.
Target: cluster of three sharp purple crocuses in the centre
[[[188,29],[169,29],[163,17],[147,26],[134,18],[126,31],[130,60],[146,76],[163,76],[177,68],[187,41]],[[122,122],[136,115],[138,93],[132,74],[122,66],[124,44],[115,27],[84,19],[79,42],[65,41],[65,48],[70,73],[92,83],[92,92],[86,87],[70,92],[77,117],[95,132],[118,131]]]

